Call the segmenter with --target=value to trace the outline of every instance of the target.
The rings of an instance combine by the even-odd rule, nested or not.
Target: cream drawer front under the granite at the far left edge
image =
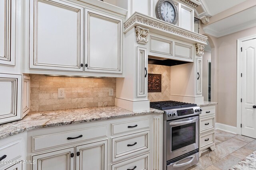
[[[21,140],[12,142],[8,145],[4,145],[4,146],[0,147],[0,158],[2,158],[2,156],[5,157],[4,159],[2,159],[2,161],[17,160],[19,157],[22,156],[22,150],[21,149],[22,149]],[[15,161],[15,163],[16,163],[16,161]],[[0,167],[5,166],[5,165],[6,164],[1,164],[0,163]]]

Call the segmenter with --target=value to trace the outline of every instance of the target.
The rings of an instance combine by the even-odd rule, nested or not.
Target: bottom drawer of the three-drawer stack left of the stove
[[[112,165],[112,170],[149,170],[149,153]]]

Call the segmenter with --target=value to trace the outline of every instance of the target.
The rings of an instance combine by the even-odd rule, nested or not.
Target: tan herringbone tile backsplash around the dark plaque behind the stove
[[[148,73],[162,74],[162,92],[149,92],[148,100],[150,102],[170,100],[170,66],[161,66],[155,64],[148,64]]]

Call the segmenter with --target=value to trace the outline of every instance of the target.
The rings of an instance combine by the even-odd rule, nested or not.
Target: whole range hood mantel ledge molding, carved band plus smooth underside
[[[206,41],[208,38],[204,35],[188,31],[187,29],[183,29],[176,25],[167,23],[165,21],[138,12],[135,12],[132,16],[130,16],[130,18],[128,18],[128,20],[124,22],[124,33],[126,33],[127,31],[129,31],[137,25],[140,25],[144,28],[148,28],[149,31],[152,33],[157,33],[168,37],[182,38],[183,41],[194,44],[207,44]]]

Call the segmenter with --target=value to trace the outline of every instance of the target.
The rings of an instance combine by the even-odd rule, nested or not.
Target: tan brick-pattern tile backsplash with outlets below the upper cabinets
[[[116,78],[30,74],[30,79],[30,112],[115,105]],[[65,98],[58,98],[58,88],[64,88]]]

